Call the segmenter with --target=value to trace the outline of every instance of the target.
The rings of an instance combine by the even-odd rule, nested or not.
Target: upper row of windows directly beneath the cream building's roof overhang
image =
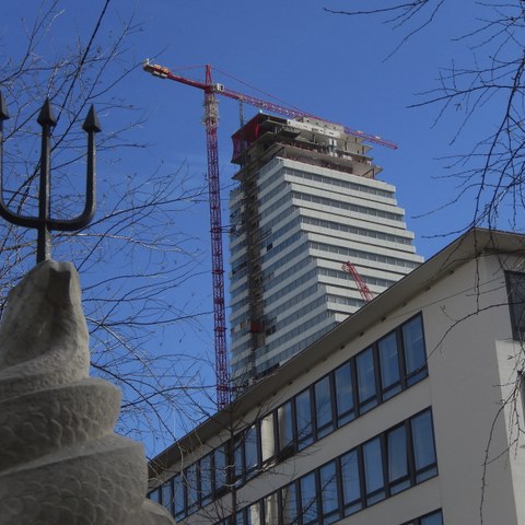
[[[176,517],[191,514],[226,487],[245,483],[425,376],[422,318],[417,315],[189,465],[161,490],[175,487]],[[389,439],[396,435],[393,431]],[[366,445],[370,454],[373,446]]]

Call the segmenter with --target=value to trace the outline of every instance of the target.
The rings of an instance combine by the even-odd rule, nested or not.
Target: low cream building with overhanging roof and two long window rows
[[[151,462],[184,524],[525,523],[525,236],[474,230]]]

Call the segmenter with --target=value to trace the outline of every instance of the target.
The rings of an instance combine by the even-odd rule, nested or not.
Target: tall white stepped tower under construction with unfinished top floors
[[[341,126],[259,114],[233,136],[231,369],[264,376],[416,268],[395,187]]]

